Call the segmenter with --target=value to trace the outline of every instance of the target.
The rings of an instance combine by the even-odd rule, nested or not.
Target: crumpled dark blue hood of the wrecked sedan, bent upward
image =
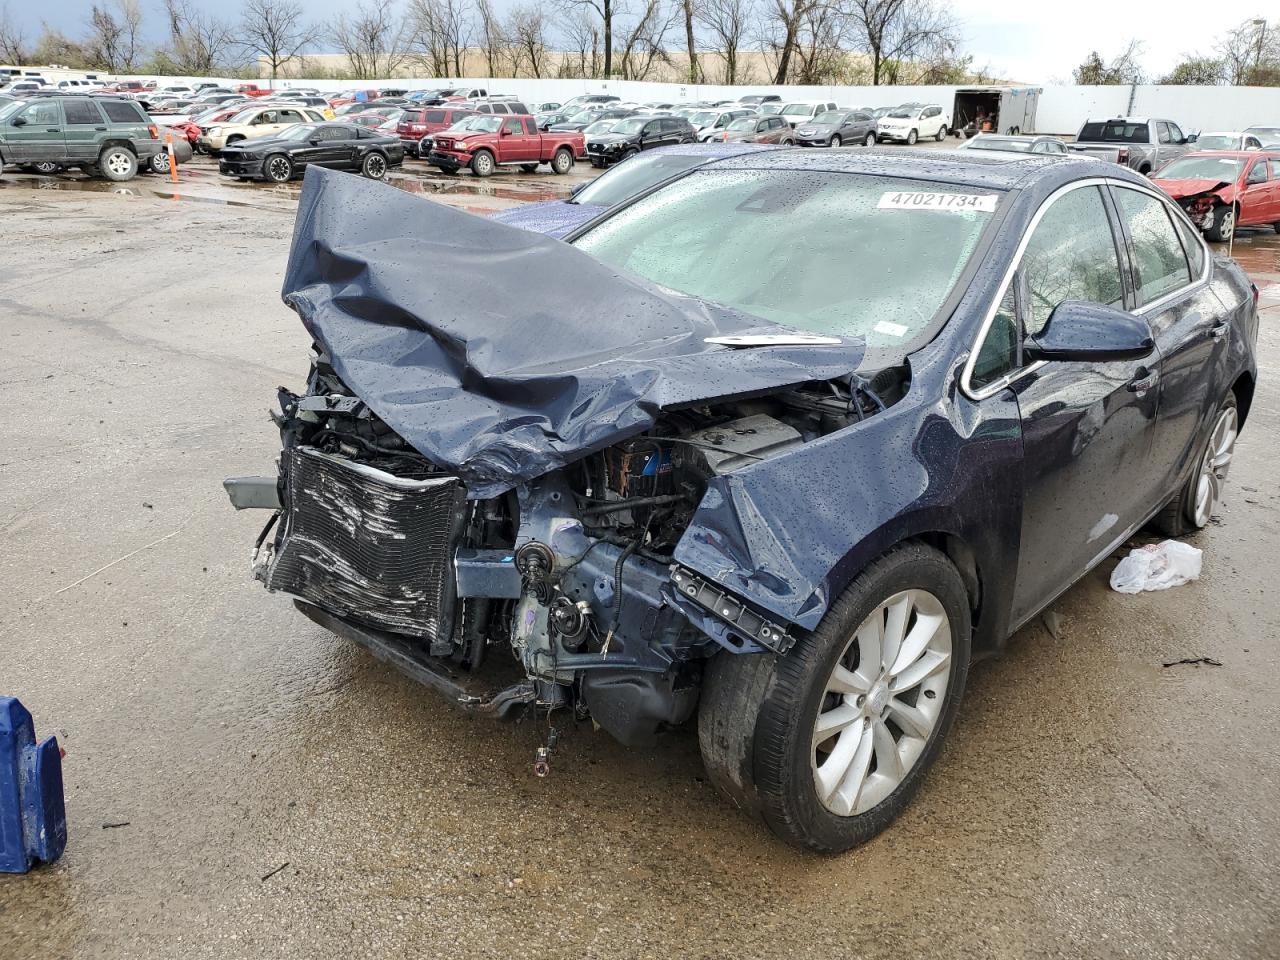
[[[308,168],[284,301],[351,390],[472,497],[653,426],[663,408],[847,375],[864,348],[790,334],[575,247]]]

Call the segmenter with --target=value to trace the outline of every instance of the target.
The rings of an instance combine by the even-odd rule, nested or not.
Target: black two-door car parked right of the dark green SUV
[[[353,123],[297,123],[274,137],[244,140],[224,147],[218,173],[242,180],[285,183],[308,166],[358,170],[380,180],[404,163],[399,137]]]

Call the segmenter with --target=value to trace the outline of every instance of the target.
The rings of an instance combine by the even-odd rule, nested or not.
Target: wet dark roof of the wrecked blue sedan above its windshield
[[[1257,152],[1257,151],[1254,151]],[[1002,154],[979,150],[780,150],[724,160],[719,170],[794,170],[799,173],[849,173],[905,179],[937,180],[988,189],[1016,189],[1021,182],[1051,170],[1068,183],[1078,177],[1097,177],[1097,161],[1033,154]],[[1146,183],[1125,168],[1108,175]]]

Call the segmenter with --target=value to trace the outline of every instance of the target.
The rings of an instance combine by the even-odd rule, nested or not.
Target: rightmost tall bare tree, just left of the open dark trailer
[[[893,81],[902,61],[957,44],[951,14],[934,0],[845,0],[856,44],[872,59],[872,84]],[[886,77],[886,69],[890,76]]]

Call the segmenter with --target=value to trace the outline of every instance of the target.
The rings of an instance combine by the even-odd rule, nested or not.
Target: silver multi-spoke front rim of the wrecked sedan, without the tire
[[[924,753],[951,682],[951,623],[927,590],[893,594],[832,667],[814,721],[818,800],[837,817],[870,810]]]

